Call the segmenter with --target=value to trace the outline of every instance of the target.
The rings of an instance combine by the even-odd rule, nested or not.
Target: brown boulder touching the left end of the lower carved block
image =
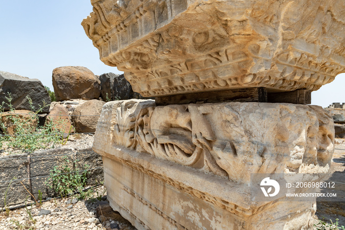
[[[90,100],[75,108],[72,122],[77,133],[93,133],[100,118],[104,101]]]

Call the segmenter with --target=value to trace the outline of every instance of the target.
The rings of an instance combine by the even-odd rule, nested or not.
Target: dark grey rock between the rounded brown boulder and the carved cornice
[[[101,96],[104,101],[142,99],[143,97],[133,92],[131,84],[124,75],[107,73],[100,76]]]

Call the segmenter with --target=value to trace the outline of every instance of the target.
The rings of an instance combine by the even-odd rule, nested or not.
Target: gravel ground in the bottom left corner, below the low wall
[[[100,192],[103,190],[104,187],[98,188]],[[96,192],[92,195],[97,197]],[[106,202],[96,198],[79,201],[72,197],[53,198],[41,206],[28,207],[32,219],[25,208],[12,210],[8,216],[0,213],[0,230],[136,230],[117,212],[98,216],[96,209],[100,203]]]

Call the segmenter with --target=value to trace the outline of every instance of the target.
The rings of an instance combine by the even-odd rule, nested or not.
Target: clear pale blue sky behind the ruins
[[[38,78],[53,89],[52,71],[84,66],[94,74],[121,73],[99,59],[80,25],[90,0],[0,0],[0,70]],[[345,74],[311,95],[312,104],[345,102]]]

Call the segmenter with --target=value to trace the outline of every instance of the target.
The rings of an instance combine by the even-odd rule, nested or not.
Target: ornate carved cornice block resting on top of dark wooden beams
[[[345,72],[340,0],[92,0],[101,60],[145,97],[317,90]]]

